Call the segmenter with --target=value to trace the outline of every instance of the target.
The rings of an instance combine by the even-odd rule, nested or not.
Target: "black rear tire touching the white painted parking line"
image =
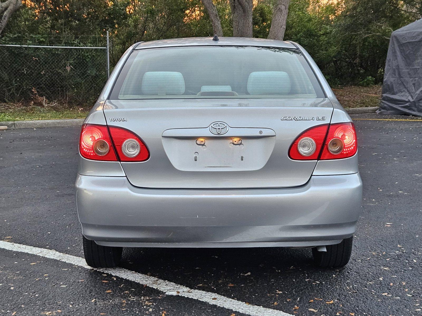
[[[82,236],[84,255],[87,264],[92,268],[113,268],[122,259],[122,247],[100,246],[95,241]]]

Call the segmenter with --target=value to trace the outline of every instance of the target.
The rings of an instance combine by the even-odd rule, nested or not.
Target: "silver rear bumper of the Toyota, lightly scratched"
[[[318,246],[352,236],[359,173],[312,176],[287,189],[167,190],[126,177],[78,175],[82,233],[106,246]]]

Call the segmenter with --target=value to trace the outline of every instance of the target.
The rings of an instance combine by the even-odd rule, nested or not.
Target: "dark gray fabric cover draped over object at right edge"
[[[391,34],[377,112],[422,116],[422,19]]]

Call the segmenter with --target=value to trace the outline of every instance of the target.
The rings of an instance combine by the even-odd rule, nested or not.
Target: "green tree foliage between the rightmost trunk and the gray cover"
[[[294,0],[286,37],[300,43],[331,83],[381,82],[391,32],[411,21],[397,0]]]

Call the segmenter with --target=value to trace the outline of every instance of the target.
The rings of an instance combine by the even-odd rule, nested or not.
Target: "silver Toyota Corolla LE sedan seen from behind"
[[[351,118],[298,44],[141,42],[116,64],[79,142],[92,267],[122,247],[312,248],[349,261],[362,181]]]

